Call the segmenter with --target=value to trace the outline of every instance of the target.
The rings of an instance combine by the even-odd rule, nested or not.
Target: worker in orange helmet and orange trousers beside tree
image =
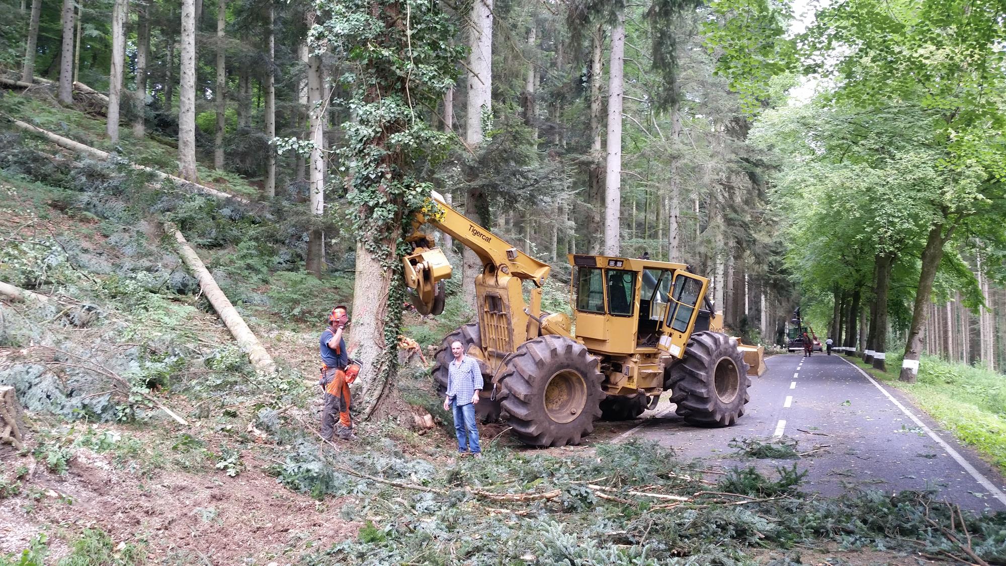
[[[325,405],[321,411],[321,435],[325,440],[332,438],[333,428],[343,440],[358,439],[353,434],[353,422],[349,416],[349,384],[356,379],[360,366],[353,363],[346,351],[343,332],[348,323],[346,307],[339,305],[333,308],[328,315],[328,327],[319,339],[322,367],[318,384],[325,392]]]

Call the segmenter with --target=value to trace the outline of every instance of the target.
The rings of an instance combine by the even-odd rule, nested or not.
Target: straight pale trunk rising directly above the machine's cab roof
[[[625,14],[618,15],[612,29],[612,53],[608,72],[608,159],[605,169],[605,254],[622,254],[622,103],[625,96]]]

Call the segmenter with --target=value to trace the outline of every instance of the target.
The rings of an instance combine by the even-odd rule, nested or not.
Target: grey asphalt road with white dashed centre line
[[[688,426],[661,401],[643,420],[599,426],[615,441],[656,440],[707,465],[756,465],[808,470],[804,489],[837,496],[862,487],[899,491],[937,487],[974,511],[1006,511],[1006,478],[973,450],[958,444],[902,394],[882,387],[837,353],[774,356],[752,378],[750,402],[736,425]],[[599,423],[601,424],[601,423]],[[607,434],[605,434],[607,436]],[[734,438],[795,439],[806,455],[795,460],[751,459],[728,444]]]

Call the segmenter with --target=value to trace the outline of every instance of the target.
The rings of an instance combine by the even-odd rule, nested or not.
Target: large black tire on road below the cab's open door
[[[720,332],[695,332],[684,360],[671,366],[664,388],[686,423],[730,426],[744,414],[750,399],[747,364],[737,343]]]

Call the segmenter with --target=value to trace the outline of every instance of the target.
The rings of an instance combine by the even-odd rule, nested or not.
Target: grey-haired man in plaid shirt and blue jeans
[[[482,369],[474,358],[465,356],[465,346],[460,341],[451,344],[454,360],[447,370],[447,398],[444,410],[454,409],[454,430],[458,434],[458,453],[469,450],[475,457],[482,457],[479,445],[479,427],[475,422],[475,405],[479,403],[482,389]]]

